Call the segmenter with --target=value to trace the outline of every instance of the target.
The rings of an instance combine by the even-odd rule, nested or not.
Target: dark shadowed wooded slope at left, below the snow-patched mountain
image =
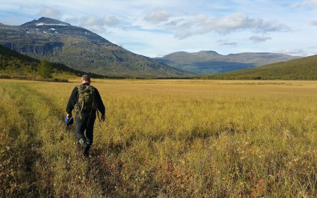
[[[63,64],[49,63],[45,60],[42,60],[42,62],[46,62],[46,64],[49,65],[50,74],[55,78],[60,76],[75,77],[86,74],[85,72],[69,68]],[[40,64],[41,61],[38,59],[20,54],[0,45],[0,78],[43,80],[39,71]],[[94,78],[104,78],[104,76],[98,74],[88,74]]]

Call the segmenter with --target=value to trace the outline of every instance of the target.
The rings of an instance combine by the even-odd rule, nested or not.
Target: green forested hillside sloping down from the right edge
[[[210,79],[228,80],[317,80],[317,55],[268,64],[256,68],[219,73]]]

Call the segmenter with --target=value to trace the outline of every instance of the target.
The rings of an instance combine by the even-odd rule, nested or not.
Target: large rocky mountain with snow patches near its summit
[[[0,25],[0,44],[33,58],[108,76],[183,76],[192,73],[132,53],[81,27],[41,17],[20,26]]]

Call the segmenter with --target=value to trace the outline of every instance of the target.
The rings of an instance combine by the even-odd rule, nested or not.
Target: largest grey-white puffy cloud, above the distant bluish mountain
[[[250,18],[245,13],[233,13],[223,18],[210,18],[201,14],[190,18],[176,27],[175,38],[185,39],[193,35],[202,35],[216,32],[222,35],[238,30],[251,30],[254,32],[286,32],[291,29],[275,21],[265,21],[261,18]]]

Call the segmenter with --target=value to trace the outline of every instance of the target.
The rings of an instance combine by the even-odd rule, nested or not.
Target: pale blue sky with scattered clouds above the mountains
[[[149,57],[201,50],[317,54],[317,0],[0,0],[5,25],[42,16]]]

